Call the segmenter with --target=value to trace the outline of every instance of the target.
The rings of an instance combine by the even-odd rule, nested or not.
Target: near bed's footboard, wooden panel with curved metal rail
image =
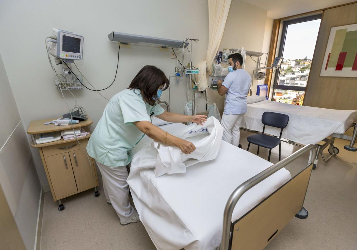
[[[307,166],[300,173],[240,219],[233,223],[231,222],[233,210],[246,191],[308,151],[310,151],[310,156]],[[294,215],[299,218],[298,215],[305,213],[307,218],[308,213],[303,208],[303,203],[308,182],[310,181],[314,155],[315,146],[312,144],[306,145],[243,182],[232,192],[227,200],[223,215],[221,250],[263,249],[288,224]]]

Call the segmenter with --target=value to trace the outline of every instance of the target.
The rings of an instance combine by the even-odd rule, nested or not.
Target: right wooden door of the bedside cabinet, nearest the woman
[[[69,155],[71,157],[74,177],[76,178],[78,191],[97,186],[96,174],[94,169],[95,166],[93,166],[92,158],[89,157],[89,163],[88,157],[82,149],[70,151]]]

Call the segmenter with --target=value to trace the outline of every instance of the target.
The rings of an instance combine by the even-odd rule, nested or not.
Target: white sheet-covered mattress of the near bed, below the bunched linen
[[[183,124],[161,127],[173,132]],[[144,137],[132,150],[139,151],[152,140]],[[157,249],[218,249],[223,211],[228,197],[244,181],[272,163],[222,141],[215,160],[200,162],[186,173],[155,177],[152,169],[131,166],[127,180],[140,220]],[[233,211],[232,221],[291,178],[286,169],[277,171],[246,192]]]

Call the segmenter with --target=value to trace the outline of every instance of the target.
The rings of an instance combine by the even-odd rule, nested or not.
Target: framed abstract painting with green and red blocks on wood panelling
[[[357,24],[331,28],[320,76],[357,77]]]

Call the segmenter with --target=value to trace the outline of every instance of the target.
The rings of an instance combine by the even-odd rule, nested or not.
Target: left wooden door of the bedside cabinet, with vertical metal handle
[[[68,152],[45,157],[56,199],[77,192]]]

